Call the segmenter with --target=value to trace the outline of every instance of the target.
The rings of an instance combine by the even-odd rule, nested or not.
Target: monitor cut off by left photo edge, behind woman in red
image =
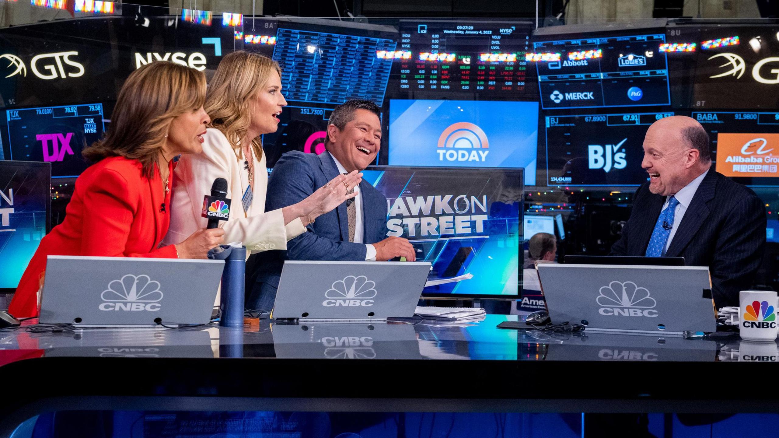
[[[0,161],[0,293],[16,291],[48,233],[51,164]]]

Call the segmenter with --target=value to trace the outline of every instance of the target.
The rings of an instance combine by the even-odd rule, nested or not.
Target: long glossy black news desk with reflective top
[[[774,390],[723,389],[726,381],[735,388],[760,371],[775,376],[770,364],[744,362],[738,335],[682,339],[495,327],[516,318],[0,332],[0,382],[13,394],[6,398],[12,403],[0,404],[0,436],[40,412],[74,409],[779,410]],[[776,359],[777,344],[747,349],[749,359]]]

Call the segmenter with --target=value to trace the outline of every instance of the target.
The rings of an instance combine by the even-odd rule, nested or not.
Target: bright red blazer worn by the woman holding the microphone
[[[174,245],[159,248],[170,224],[171,196],[163,189],[159,172],[146,178],[136,160],[111,157],[87,168],[76,179],[65,221],[41,239],[27,265],[9,313],[37,316],[36,292],[50,255],[176,258]]]

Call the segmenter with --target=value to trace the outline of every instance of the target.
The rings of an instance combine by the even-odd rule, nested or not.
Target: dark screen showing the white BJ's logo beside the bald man
[[[545,117],[547,184],[641,185],[649,125],[674,115],[633,113]]]

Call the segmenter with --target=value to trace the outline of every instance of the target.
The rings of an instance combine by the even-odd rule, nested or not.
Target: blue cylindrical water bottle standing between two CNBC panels
[[[246,247],[233,246],[224,260],[222,295],[220,297],[222,327],[243,327]]]

